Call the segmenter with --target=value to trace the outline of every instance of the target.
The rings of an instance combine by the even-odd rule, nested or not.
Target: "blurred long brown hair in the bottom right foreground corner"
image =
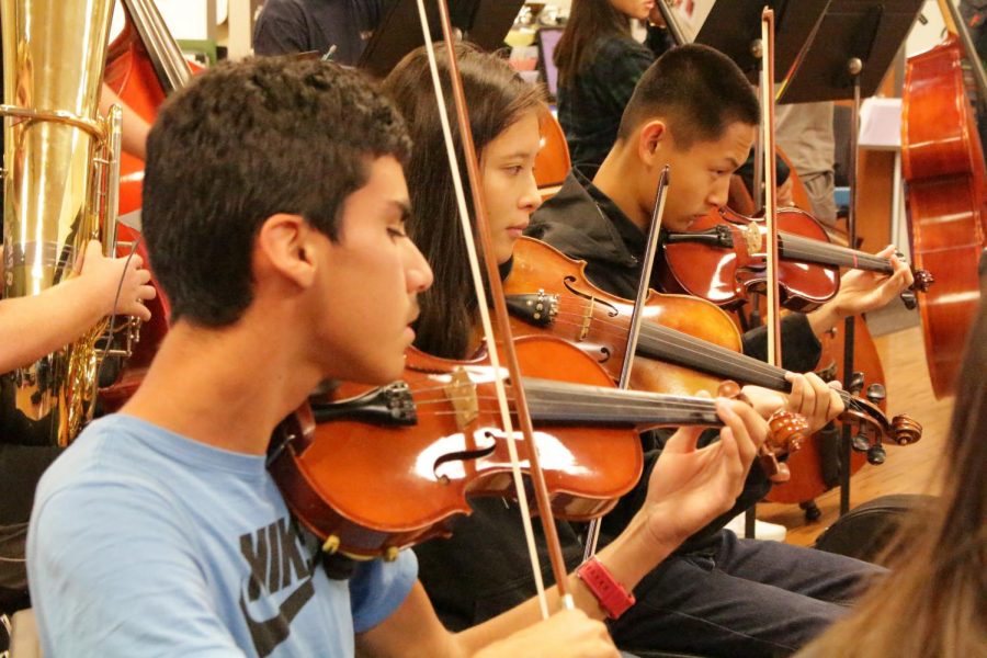
[[[983,284],[987,280],[982,281]],[[942,494],[893,543],[892,571],[810,656],[987,656],[987,297],[982,297],[956,382]]]

